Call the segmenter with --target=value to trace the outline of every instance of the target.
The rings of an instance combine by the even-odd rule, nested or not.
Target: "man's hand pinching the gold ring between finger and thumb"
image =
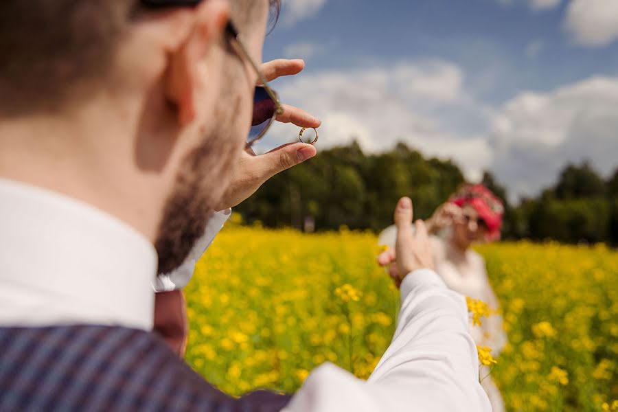
[[[273,60],[260,67],[266,81],[281,76],[300,73],[305,68],[303,60]],[[277,122],[293,123],[299,127],[320,126],[321,122],[301,108],[282,104],[284,111],[277,116]],[[291,168],[317,154],[314,146],[304,143],[284,144],[264,155],[255,156],[249,150],[242,153],[232,181],[218,205],[218,210],[234,207],[255,193],[261,185],[275,174]]]

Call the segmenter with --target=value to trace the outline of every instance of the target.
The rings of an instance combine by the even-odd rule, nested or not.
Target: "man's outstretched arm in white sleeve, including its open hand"
[[[387,352],[367,382],[326,364],[316,369],[286,411],[491,411],[479,384],[476,345],[468,334],[461,295],[448,290],[432,270],[422,222],[409,227],[409,199],[396,210],[396,255],[402,308]],[[382,264],[394,263],[381,256]]]

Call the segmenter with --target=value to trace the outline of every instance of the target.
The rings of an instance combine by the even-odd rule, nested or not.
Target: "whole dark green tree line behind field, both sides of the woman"
[[[380,231],[401,196],[413,198],[416,217],[428,218],[464,182],[453,161],[405,144],[365,155],[354,142],[277,174],[235,211],[266,227]],[[554,187],[516,206],[489,172],[483,183],[505,203],[503,238],[618,244],[618,169],[604,181],[588,163],[567,165]]]

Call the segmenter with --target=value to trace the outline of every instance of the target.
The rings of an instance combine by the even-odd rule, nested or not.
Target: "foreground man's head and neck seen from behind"
[[[170,271],[201,235],[251,124],[255,73],[225,25],[260,62],[268,10],[268,0],[1,1],[0,176],[115,214]]]

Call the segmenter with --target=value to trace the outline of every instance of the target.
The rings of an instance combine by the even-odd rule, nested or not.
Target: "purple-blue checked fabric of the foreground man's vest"
[[[270,412],[290,396],[232,398],[155,334],[97,325],[0,328],[0,411]]]

